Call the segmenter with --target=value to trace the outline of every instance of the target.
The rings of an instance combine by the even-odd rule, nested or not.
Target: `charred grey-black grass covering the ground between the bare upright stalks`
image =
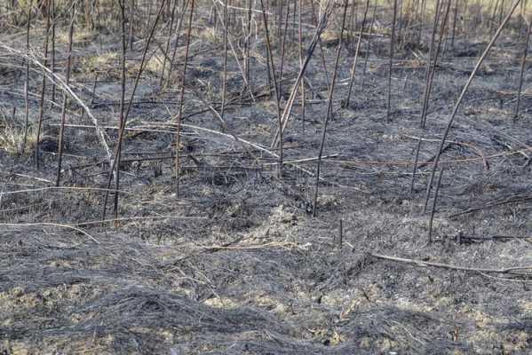
[[[403,45],[395,54],[390,119],[387,37],[373,37],[369,51],[365,37],[349,107],[342,100],[354,52],[352,45],[343,51],[323,153],[330,157],[322,162],[318,214],[312,217],[315,161],[286,164],[280,179],[276,158],[227,136],[269,149],[277,118],[263,40],[253,43],[254,99],[229,58],[223,128],[204,104],[218,109],[220,103],[222,41],[207,38],[202,21],[193,31],[187,72],[179,196],[171,159],[175,129],[168,123],[177,112],[183,43],[171,85],[161,87],[160,73],[147,67],[136,92],[128,127],[139,130],[128,130],[124,140],[122,220],[94,223],[105,194],[95,188],[105,188],[109,165],[92,122],[74,101],[67,123],[77,126],[66,130],[63,188],[51,187],[60,89],[59,106],[45,104],[41,167],[32,154],[0,150],[0,353],[532,351],[529,279],[369,256],[492,269],[532,264],[532,101],[526,75],[514,119],[522,51],[515,28],[503,32],[458,111],[442,155],[434,241],[427,243],[423,205],[433,155],[487,37],[458,36],[454,48],[447,43],[426,130],[418,128],[426,48]],[[74,46],[74,90],[105,127],[117,127],[119,115],[119,36],[113,33],[94,31]],[[32,37],[39,49],[41,35]],[[155,42],[163,45],[163,31],[158,36]],[[282,104],[298,71],[290,36]],[[18,50],[25,45],[20,33],[2,35],[2,42]],[[143,41],[133,44],[126,98]],[[58,43],[61,75],[65,47]],[[328,39],[323,49],[331,70],[336,42]],[[155,45],[153,51],[153,60],[162,58]],[[284,136],[286,161],[318,154],[328,95],[319,51],[306,73],[305,130],[298,99]],[[115,56],[89,60],[108,52]],[[0,55],[0,83],[3,130],[20,132],[24,60]],[[32,69],[34,124],[40,85],[41,74]],[[114,149],[117,131],[106,132]],[[410,193],[418,138],[425,139],[419,154],[425,164]],[[467,213],[453,216],[461,212]]]

